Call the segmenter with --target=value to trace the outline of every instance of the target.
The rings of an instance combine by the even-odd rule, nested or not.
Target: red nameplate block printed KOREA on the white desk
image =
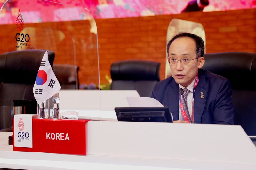
[[[86,123],[89,120],[32,119],[33,147],[15,147],[13,119],[13,151],[86,155]],[[23,136],[26,140],[26,136]],[[17,140],[16,139],[16,140]]]

